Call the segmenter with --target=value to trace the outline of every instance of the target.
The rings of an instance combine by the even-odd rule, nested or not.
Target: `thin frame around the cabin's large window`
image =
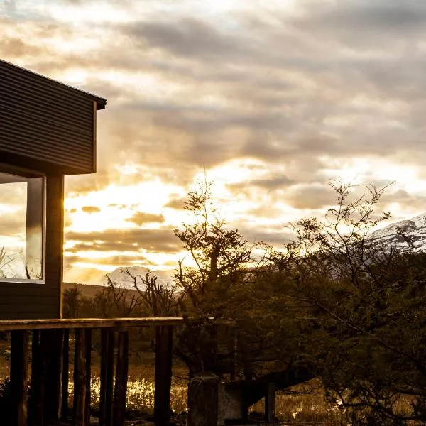
[[[46,175],[38,170],[31,170],[28,168],[19,167],[16,165],[10,165],[0,162],[0,173],[6,173],[9,175],[21,176],[22,178],[42,178],[42,244],[41,244],[41,279],[27,279],[27,278],[0,278],[0,285],[10,283],[21,283],[21,284],[45,284],[46,283]],[[28,206],[27,206],[28,209]],[[1,219],[0,219],[1,220]]]

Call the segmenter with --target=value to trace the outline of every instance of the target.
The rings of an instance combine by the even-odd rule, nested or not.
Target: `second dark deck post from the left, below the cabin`
[[[31,346],[31,388],[28,405],[28,420],[35,425],[43,425],[43,359],[41,354],[40,330],[33,330]]]

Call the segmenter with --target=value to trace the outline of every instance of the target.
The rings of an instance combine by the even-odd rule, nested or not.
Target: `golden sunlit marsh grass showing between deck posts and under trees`
[[[3,346],[3,345],[1,345]],[[4,349],[4,348],[0,348]],[[6,353],[6,352],[5,352]],[[146,352],[131,356],[129,360],[129,381],[127,404],[131,410],[152,415],[154,403],[155,364],[153,354]],[[92,408],[99,407],[99,356],[94,353],[92,359]],[[72,368],[70,359],[70,405],[73,398]],[[0,389],[9,376],[8,356],[0,354]],[[1,395],[0,395],[1,398]],[[411,410],[411,400],[399,398],[396,401],[400,413]],[[187,410],[187,368],[178,359],[173,360],[172,391],[170,405],[175,413]],[[319,380],[295,386],[286,391],[278,391],[275,400],[276,415],[280,425],[304,426],[347,426],[349,423],[337,405],[327,402]],[[264,400],[251,407],[253,417],[263,417]],[[413,422],[412,425],[415,425]]]

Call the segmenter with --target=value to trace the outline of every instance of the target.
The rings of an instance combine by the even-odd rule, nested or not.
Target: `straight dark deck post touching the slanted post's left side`
[[[114,386],[114,330],[101,329],[101,388],[99,392],[99,426],[112,426]]]

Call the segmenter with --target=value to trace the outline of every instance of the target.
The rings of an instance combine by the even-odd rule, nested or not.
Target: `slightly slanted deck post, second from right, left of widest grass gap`
[[[124,426],[126,414],[127,375],[129,373],[129,332],[119,332],[117,343],[116,382],[114,388],[113,425]]]

